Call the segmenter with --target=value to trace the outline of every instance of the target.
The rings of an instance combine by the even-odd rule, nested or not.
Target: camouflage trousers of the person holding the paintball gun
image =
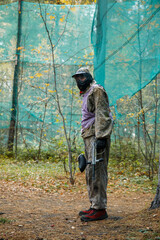
[[[87,161],[92,161],[92,147],[95,137],[84,138],[85,155]],[[108,183],[108,159],[110,149],[110,138],[107,139],[106,148],[97,152],[97,159],[103,158],[102,162],[96,163],[95,179],[92,179],[92,165],[86,167],[86,184],[91,203],[91,208],[105,209],[107,206],[107,183]]]

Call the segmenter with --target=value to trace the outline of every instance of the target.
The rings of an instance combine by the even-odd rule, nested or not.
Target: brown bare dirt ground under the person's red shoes
[[[14,182],[0,182],[0,240],[160,239],[160,209],[148,211],[152,194],[108,193],[109,219],[82,223],[89,207],[86,191],[45,193]],[[144,201],[145,199],[145,201]]]

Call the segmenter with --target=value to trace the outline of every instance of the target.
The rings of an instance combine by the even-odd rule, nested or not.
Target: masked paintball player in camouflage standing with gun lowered
[[[103,161],[95,165],[95,179],[92,178],[92,165],[86,166],[86,183],[90,208],[80,211],[81,220],[96,221],[108,217],[107,204],[107,165],[112,132],[112,118],[108,96],[104,88],[93,80],[87,68],[80,68],[73,76],[83,98],[82,103],[82,137],[85,144],[87,162],[92,161],[92,148],[96,142],[97,158]]]

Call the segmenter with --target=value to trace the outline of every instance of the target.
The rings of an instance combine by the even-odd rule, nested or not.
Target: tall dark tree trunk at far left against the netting
[[[16,45],[16,62],[13,79],[13,93],[12,93],[12,109],[8,137],[8,150],[13,152],[15,126],[17,119],[17,105],[18,105],[18,79],[20,71],[20,42],[21,42],[21,26],[22,25],[22,0],[18,3],[18,30],[17,30],[17,45]]]

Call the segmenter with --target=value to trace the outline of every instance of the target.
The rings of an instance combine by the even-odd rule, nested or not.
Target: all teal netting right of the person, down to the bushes
[[[115,107],[112,137],[138,145],[141,138],[147,159],[160,141],[159,0],[99,0],[92,43],[95,78]]]

